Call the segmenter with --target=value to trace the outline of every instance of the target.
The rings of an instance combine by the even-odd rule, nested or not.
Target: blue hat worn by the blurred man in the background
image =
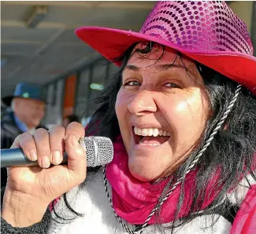
[[[2,102],[7,106],[10,106],[13,97],[22,97],[46,102],[43,86],[39,86],[37,84],[29,82],[18,83],[13,93],[13,96],[3,97]]]

